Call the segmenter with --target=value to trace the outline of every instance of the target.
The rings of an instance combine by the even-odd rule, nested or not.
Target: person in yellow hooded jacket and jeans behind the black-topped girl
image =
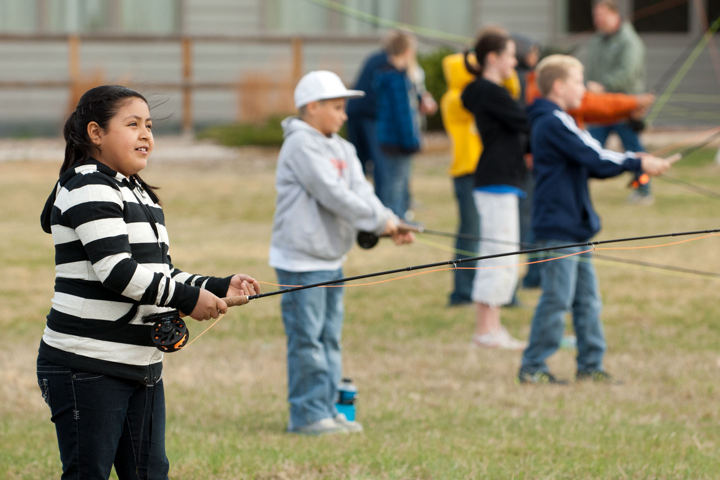
[[[452,163],[450,175],[453,178],[455,196],[459,212],[458,237],[455,249],[458,251],[455,258],[467,258],[460,252],[473,253],[480,251],[477,240],[467,236],[480,236],[480,217],[472,198],[474,187],[473,173],[477,167],[477,160],[482,153],[482,141],[477,133],[475,119],[462,105],[460,96],[468,83],[475,77],[465,68],[462,53],[448,55],[442,60],[443,73],[448,90],[440,99],[440,114],[443,119],[445,131],[451,142]],[[514,99],[520,96],[520,81],[517,73],[505,80],[505,89],[508,89]],[[467,236],[465,236],[467,235]],[[464,263],[463,266],[474,267],[474,262]],[[470,297],[474,270],[455,270],[453,291],[450,294],[449,304],[472,304]]]

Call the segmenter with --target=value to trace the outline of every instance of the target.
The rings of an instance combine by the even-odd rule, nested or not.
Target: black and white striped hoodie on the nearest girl
[[[152,383],[163,354],[142,317],[192,312],[199,289],[222,297],[230,286],[174,268],[158,198],[94,159],[60,177],[40,222],[56,271],[40,356],[58,365]]]

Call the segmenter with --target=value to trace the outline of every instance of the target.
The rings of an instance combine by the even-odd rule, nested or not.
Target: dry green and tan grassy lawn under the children
[[[720,191],[714,151],[670,173]],[[185,271],[267,266],[274,153],[233,162],[157,163],[171,253]],[[251,158],[250,158],[251,157]],[[417,219],[453,230],[447,155],[418,155]],[[0,163],[0,478],[60,475],[50,412],[35,378],[53,295],[53,242],[39,217],[58,164]],[[593,184],[598,240],[719,227],[714,199],[654,181],[652,207],[626,204],[628,178]],[[451,240],[425,237],[448,248]],[[672,241],[670,239],[667,241]],[[719,239],[608,255],[718,271]],[[663,240],[617,245],[652,245]],[[354,248],[348,276],[449,260],[437,245]],[[720,457],[718,279],[599,262],[606,367],[623,386],[516,386],[520,354],[474,350],[472,307],[446,307],[451,272],[346,289],[344,373],[359,387],[362,435],[300,438],[287,424],[279,296],[231,309],[197,343],[166,356],[167,453],[176,479],[715,479]],[[264,286],[266,289],[273,287]],[[504,322],[527,338],[538,291]],[[209,324],[192,322],[199,334]],[[572,378],[575,353],[550,366]]]

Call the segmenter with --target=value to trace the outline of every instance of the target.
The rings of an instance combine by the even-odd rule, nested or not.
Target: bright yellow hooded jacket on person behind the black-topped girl
[[[474,61],[474,55],[470,61]],[[450,175],[471,175],[477,167],[477,160],[480,160],[482,141],[477,133],[475,118],[462,106],[460,96],[467,84],[474,81],[475,76],[467,71],[463,53],[454,53],[443,58],[443,73],[448,91],[440,99],[440,114],[452,145]],[[520,81],[515,71],[513,76],[505,80],[503,86],[513,99],[520,98]]]

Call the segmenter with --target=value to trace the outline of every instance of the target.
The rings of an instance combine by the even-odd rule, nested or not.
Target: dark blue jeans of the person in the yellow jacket
[[[480,214],[475,208],[475,201],[472,198],[472,189],[474,188],[474,176],[464,175],[453,178],[455,186],[455,197],[457,199],[458,217],[460,225],[457,232],[463,235],[475,235],[480,237]],[[456,252],[454,258],[469,258],[480,255],[480,242],[478,240],[469,240],[467,238],[456,238],[455,250],[472,253]],[[463,267],[474,267],[477,262],[462,263]],[[455,270],[454,273],[454,289],[450,294],[450,304],[472,303],[472,279],[475,277],[474,270]]]

